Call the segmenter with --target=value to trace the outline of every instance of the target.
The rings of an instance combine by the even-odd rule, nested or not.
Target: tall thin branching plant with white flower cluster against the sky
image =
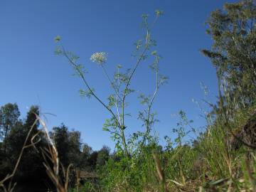
[[[129,156],[129,146],[128,143],[133,143],[134,138],[142,139],[142,143],[146,144],[146,140],[149,139],[150,131],[153,127],[155,119],[155,112],[152,112],[152,105],[154,103],[159,87],[166,82],[166,77],[159,73],[159,60],[161,59],[160,55],[156,50],[153,50],[153,47],[156,46],[156,41],[151,38],[151,29],[154,27],[159,16],[163,14],[163,11],[156,10],[155,18],[152,23],[148,22],[148,15],[142,16],[142,28],[144,28],[144,37],[139,39],[135,45],[135,50],[133,53],[136,62],[134,63],[132,69],[123,70],[122,65],[117,65],[114,72],[113,78],[110,78],[109,73],[107,73],[106,63],[107,63],[107,53],[98,52],[93,53],[90,60],[93,63],[97,63],[102,69],[102,72],[106,76],[107,80],[110,82],[112,87],[112,94],[107,97],[107,102],[105,102],[100,95],[97,94],[95,89],[90,85],[90,82],[87,81],[87,70],[85,70],[84,65],[80,64],[78,59],[79,57],[73,52],[65,50],[64,46],[60,44],[60,36],[55,38],[55,42],[58,43],[58,46],[55,50],[57,55],[63,55],[68,59],[68,62],[73,67],[75,74],[80,77],[82,82],[85,85],[85,89],[80,90],[80,94],[86,97],[94,97],[100,104],[110,113],[110,119],[106,119],[105,124],[103,125],[103,130],[110,132],[112,134],[112,139],[116,144],[117,151],[123,151],[124,155],[128,158]],[[139,95],[142,105],[146,105],[146,108],[139,112],[138,119],[141,119],[144,122],[145,131],[134,133],[130,138],[130,141],[127,142],[125,136],[125,130],[127,129],[126,117],[129,116],[127,113],[127,97],[134,92],[131,87],[132,79],[139,68],[139,65],[143,63],[146,58],[149,56],[154,57],[154,62],[149,65],[149,67],[155,73],[155,87],[154,93],[152,95]]]

